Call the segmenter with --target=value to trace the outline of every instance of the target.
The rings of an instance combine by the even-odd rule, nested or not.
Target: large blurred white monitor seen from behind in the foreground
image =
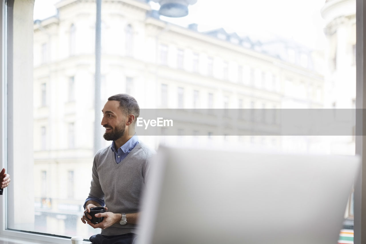
[[[359,158],[161,148],[138,244],[335,244]]]

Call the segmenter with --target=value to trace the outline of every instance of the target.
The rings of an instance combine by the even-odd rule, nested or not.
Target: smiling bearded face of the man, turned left
[[[126,116],[119,107],[119,101],[107,101],[102,112],[101,125],[105,127],[103,137],[107,141],[116,141],[123,136],[126,125]]]

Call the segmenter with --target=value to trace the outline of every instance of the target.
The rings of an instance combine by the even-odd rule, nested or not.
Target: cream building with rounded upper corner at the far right
[[[324,74],[325,108],[356,108],[356,1],[327,0],[321,9],[327,38]],[[355,153],[355,126],[352,136],[333,138],[333,150]],[[345,212],[339,243],[353,243],[353,193]]]

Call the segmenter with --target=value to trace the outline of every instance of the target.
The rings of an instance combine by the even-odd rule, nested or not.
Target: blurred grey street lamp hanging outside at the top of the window
[[[188,15],[188,5],[197,3],[197,0],[153,0],[160,4],[159,14],[167,17],[184,17]]]

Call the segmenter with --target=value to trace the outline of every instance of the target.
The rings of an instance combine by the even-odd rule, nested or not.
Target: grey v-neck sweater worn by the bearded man
[[[100,149],[94,156],[89,197],[104,199],[108,212],[126,214],[139,212],[145,175],[154,153],[155,151],[140,142],[117,164],[111,146]],[[136,227],[128,223],[127,225],[116,223],[102,230],[101,234],[115,236],[136,233]]]

